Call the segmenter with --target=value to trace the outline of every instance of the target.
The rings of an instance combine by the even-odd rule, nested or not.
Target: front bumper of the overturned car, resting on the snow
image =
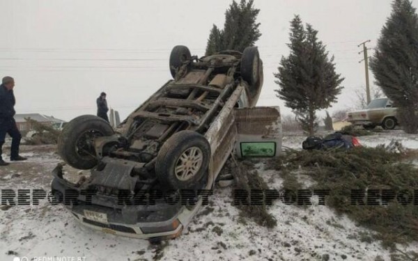
[[[52,191],[65,195],[68,191],[81,191],[75,184],[62,177],[62,166],[52,171]],[[62,201],[62,198],[61,198]],[[88,228],[100,230],[113,235],[134,237],[139,239],[171,239],[178,237],[189,221],[193,218],[202,204],[198,200],[196,205],[169,205],[156,203],[155,205],[118,205],[117,201],[109,197],[95,195],[91,203],[87,203],[86,196],[79,195],[77,204],[63,204],[79,223]],[[91,219],[86,213],[97,213],[105,219]]]

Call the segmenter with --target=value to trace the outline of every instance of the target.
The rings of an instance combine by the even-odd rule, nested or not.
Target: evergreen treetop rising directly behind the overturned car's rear
[[[242,52],[245,47],[254,46],[261,36],[260,23],[256,22],[259,12],[254,8],[254,0],[241,0],[239,4],[233,0],[225,12],[224,29],[214,25],[210,30],[206,55],[226,49]]]

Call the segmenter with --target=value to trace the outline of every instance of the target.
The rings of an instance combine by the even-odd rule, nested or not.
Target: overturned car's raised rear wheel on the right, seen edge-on
[[[241,58],[241,77],[251,88],[258,84],[259,68],[260,55],[257,47],[245,48]]]

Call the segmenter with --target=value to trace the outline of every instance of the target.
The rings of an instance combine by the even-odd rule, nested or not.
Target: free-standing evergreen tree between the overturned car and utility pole
[[[291,21],[291,54],[282,57],[278,80],[277,97],[285,101],[302,125],[302,129],[314,134],[318,126],[316,111],[326,109],[341,93],[343,78],[336,74],[334,56],[328,58],[323,42],[318,40],[318,31],[310,24],[306,29],[298,15]]]

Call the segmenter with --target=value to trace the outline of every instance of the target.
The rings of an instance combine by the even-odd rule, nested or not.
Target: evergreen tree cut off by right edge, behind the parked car
[[[371,59],[376,84],[399,107],[408,133],[418,132],[418,16],[409,0],[395,0]]]

